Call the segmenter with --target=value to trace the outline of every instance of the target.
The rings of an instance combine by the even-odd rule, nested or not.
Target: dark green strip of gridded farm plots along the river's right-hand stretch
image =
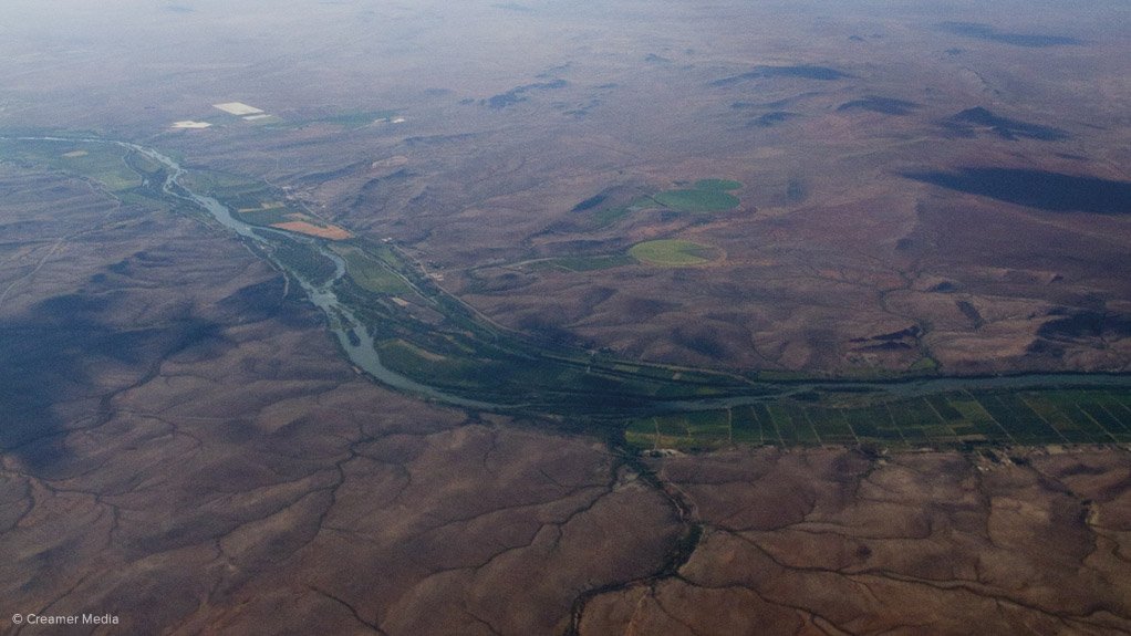
[[[732,444],[943,447],[1131,443],[1131,391],[959,391],[858,399],[856,406],[770,400],[687,415],[637,418],[627,441],[644,450]]]

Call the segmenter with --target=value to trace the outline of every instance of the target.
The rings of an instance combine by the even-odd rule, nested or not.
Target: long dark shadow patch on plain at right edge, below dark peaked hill
[[[1131,182],[1022,168],[909,172],[907,178],[1051,212],[1131,214]]]

